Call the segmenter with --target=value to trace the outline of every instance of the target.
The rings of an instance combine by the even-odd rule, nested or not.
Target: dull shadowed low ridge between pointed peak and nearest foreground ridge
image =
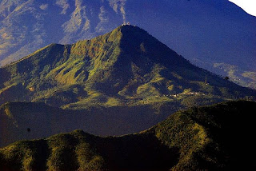
[[[9,102],[0,107],[0,146],[74,129],[102,136],[136,133],[176,110],[175,103],[69,110],[43,103]]]

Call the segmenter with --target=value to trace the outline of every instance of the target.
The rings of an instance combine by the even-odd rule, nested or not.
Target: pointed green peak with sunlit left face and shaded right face
[[[41,101],[65,109],[256,94],[191,65],[136,26],[72,45],[51,44],[1,68],[0,78],[0,104]]]

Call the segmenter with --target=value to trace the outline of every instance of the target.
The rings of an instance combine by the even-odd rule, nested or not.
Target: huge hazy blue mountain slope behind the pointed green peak
[[[255,89],[255,17],[228,0],[2,0],[2,66],[52,42],[141,26],[194,65]]]

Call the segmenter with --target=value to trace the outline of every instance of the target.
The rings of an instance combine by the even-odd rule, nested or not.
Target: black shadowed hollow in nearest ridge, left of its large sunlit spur
[[[179,158],[178,148],[162,144],[149,133],[106,137],[96,148],[110,170],[169,170]]]

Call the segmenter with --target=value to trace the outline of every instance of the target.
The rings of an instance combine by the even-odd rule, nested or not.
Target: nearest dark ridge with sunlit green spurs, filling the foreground
[[[2,170],[254,170],[255,102],[230,101],[172,114],[141,133],[82,130],[0,149]]]

